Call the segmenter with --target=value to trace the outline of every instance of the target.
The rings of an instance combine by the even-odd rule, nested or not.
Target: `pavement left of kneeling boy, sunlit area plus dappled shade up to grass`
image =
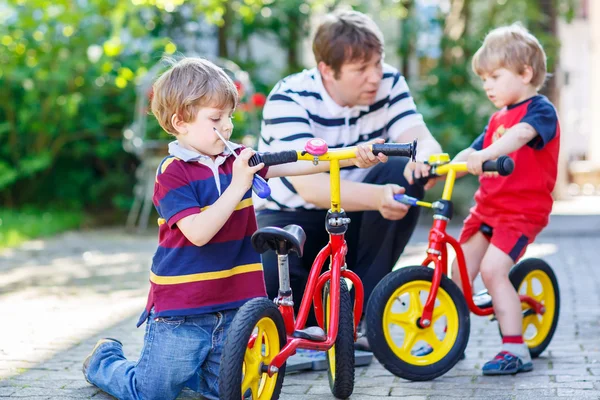
[[[140,314],[155,241],[72,232],[0,253],[0,379]]]

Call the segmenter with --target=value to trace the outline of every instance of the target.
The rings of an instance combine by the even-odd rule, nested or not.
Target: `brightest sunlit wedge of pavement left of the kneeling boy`
[[[56,353],[142,311],[146,290],[99,295],[25,289],[0,302],[0,378],[35,367]],[[26,360],[26,361],[25,361]]]

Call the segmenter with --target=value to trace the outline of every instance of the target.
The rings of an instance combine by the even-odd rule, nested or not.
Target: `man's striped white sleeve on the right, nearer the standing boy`
[[[386,131],[392,141],[397,141],[404,131],[414,126],[425,125],[423,116],[417,112],[417,107],[410,95],[406,80],[397,71],[394,74],[390,91],[388,117]]]

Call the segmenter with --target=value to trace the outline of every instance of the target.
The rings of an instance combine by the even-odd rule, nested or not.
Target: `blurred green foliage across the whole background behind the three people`
[[[572,16],[574,0],[553,1]],[[466,28],[444,34],[442,57],[419,60],[422,74],[411,82],[428,126],[449,153],[468,146],[493,111],[470,72],[487,30],[522,21],[545,45],[553,70],[558,43],[543,29],[541,2],[450,1],[468,5]],[[372,6],[364,0],[8,0],[0,13],[0,206],[128,209],[139,161],[123,150],[123,130],[133,120],[136,83],[164,54],[198,52],[195,46],[214,41],[218,29],[229,58],[250,73],[258,92],[268,93],[281,76],[258,74],[270,66],[253,61],[250,37],[278,43],[288,71],[296,72],[311,15],[342,3],[367,12]],[[380,4],[382,16],[404,18],[398,47],[410,54],[422,28],[414,9],[409,12],[414,1]],[[199,21],[215,24],[215,31],[198,29]],[[448,32],[447,14],[433,23]],[[259,111],[240,108],[235,132],[256,131]],[[147,122],[152,138],[170,139],[153,117]]]

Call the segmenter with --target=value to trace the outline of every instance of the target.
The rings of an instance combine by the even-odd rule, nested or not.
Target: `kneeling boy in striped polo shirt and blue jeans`
[[[213,63],[186,58],[154,84],[152,112],[177,140],[160,164],[154,205],[159,245],[152,261],[150,293],[138,326],[147,322],[139,361],[128,361],[122,344],[102,339],[84,361],[86,380],[119,399],[174,399],[184,387],[218,399],[218,375],[227,329],[246,301],[264,297],[252,205],[254,174],[263,178],[310,174],[328,163],[263,168],[248,165],[252,149],[230,143],[237,90]],[[375,157],[361,146],[344,166],[369,167]]]

